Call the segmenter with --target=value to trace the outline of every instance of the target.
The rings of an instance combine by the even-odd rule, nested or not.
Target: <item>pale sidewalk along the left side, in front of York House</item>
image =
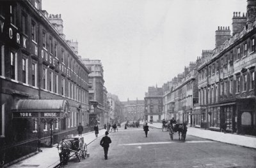
[[[99,135],[97,138],[104,136],[106,130],[101,129],[99,130]],[[87,132],[82,135],[84,137],[84,143],[89,145],[95,139],[95,133]],[[56,148],[57,144],[54,144],[52,148],[41,148],[42,152],[33,155],[32,157],[26,158],[16,164],[10,165],[9,167],[38,167],[38,168],[46,168],[46,167],[55,167],[56,165],[60,164],[60,157],[58,155],[58,150]],[[88,151],[90,153],[90,151]]]

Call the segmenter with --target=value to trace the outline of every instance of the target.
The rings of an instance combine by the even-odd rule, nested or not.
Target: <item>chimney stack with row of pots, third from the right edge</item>
[[[231,37],[229,26],[218,26],[218,30],[215,31],[215,47],[221,46],[227,39]]]

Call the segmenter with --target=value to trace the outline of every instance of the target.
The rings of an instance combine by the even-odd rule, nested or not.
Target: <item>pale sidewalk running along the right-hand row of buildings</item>
[[[162,123],[148,123],[149,127],[154,127],[156,129],[162,129]],[[248,148],[255,148],[256,149],[256,137],[251,136],[241,136],[237,134],[224,134],[223,132],[217,132],[213,130],[205,130],[205,129],[198,129],[194,127],[188,127],[188,135],[202,137],[205,139],[211,139],[213,141],[218,141],[221,143],[228,143],[228,144],[236,144],[239,146],[245,146]]]

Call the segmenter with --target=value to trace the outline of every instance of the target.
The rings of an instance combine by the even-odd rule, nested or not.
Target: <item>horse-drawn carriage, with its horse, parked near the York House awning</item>
[[[66,165],[70,157],[77,157],[80,162],[82,158],[85,159],[87,157],[88,153],[84,138],[80,136],[63,139],[58,143],[57,148],[60,155],[61,165]]]

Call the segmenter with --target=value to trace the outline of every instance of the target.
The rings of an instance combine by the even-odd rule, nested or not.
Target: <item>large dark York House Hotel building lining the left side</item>
[[[0,161],[88,130],[88,69],[42,1],[0,1]],[[29,148],[28,148],[29,146]],[[19,152],[15,152],[19,151]],[[12,157],[10,157],[12,156]]]

